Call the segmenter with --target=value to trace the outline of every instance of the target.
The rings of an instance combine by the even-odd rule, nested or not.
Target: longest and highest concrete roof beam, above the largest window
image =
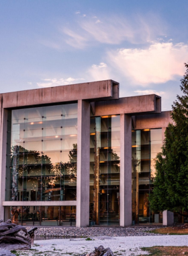
[[[119,98],[119,84],[112,80],[71,84],[1,94],[3,108],[53,104],[76,100],[111,100]]]

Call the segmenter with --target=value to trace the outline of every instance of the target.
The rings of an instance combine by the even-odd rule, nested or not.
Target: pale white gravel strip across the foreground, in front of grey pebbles
[[[109,247],[114,255],[147,254],[140,247],[153,246],[188,246],[188,235],[162,235],[162,236],[97,236],[92,241],[86,238],[52,239],[34,241],[32,249],[36,251],[23,251],[20,255],[79,255],[90,253],[94,247]],[[23,254],[22,254],[23,253]]]

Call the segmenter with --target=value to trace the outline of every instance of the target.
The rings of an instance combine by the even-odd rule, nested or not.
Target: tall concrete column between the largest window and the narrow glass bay
[[[89,225],[90,103],[78,100],[77,227]]]

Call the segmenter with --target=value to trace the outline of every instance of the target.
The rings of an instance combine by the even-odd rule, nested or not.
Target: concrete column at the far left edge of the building
[[[4,220],[6,161],[7,161],[7,110],[0,108],[0,220]]]

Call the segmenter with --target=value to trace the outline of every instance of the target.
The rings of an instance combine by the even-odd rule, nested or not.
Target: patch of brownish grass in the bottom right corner
[[[154,247],[143,247],[143,251],[148,251],[150,256],[180,256],[188,255],[188,247],[175,247],[175,246],[154,246]],[[141,254],[140,256],[145,256]]]

